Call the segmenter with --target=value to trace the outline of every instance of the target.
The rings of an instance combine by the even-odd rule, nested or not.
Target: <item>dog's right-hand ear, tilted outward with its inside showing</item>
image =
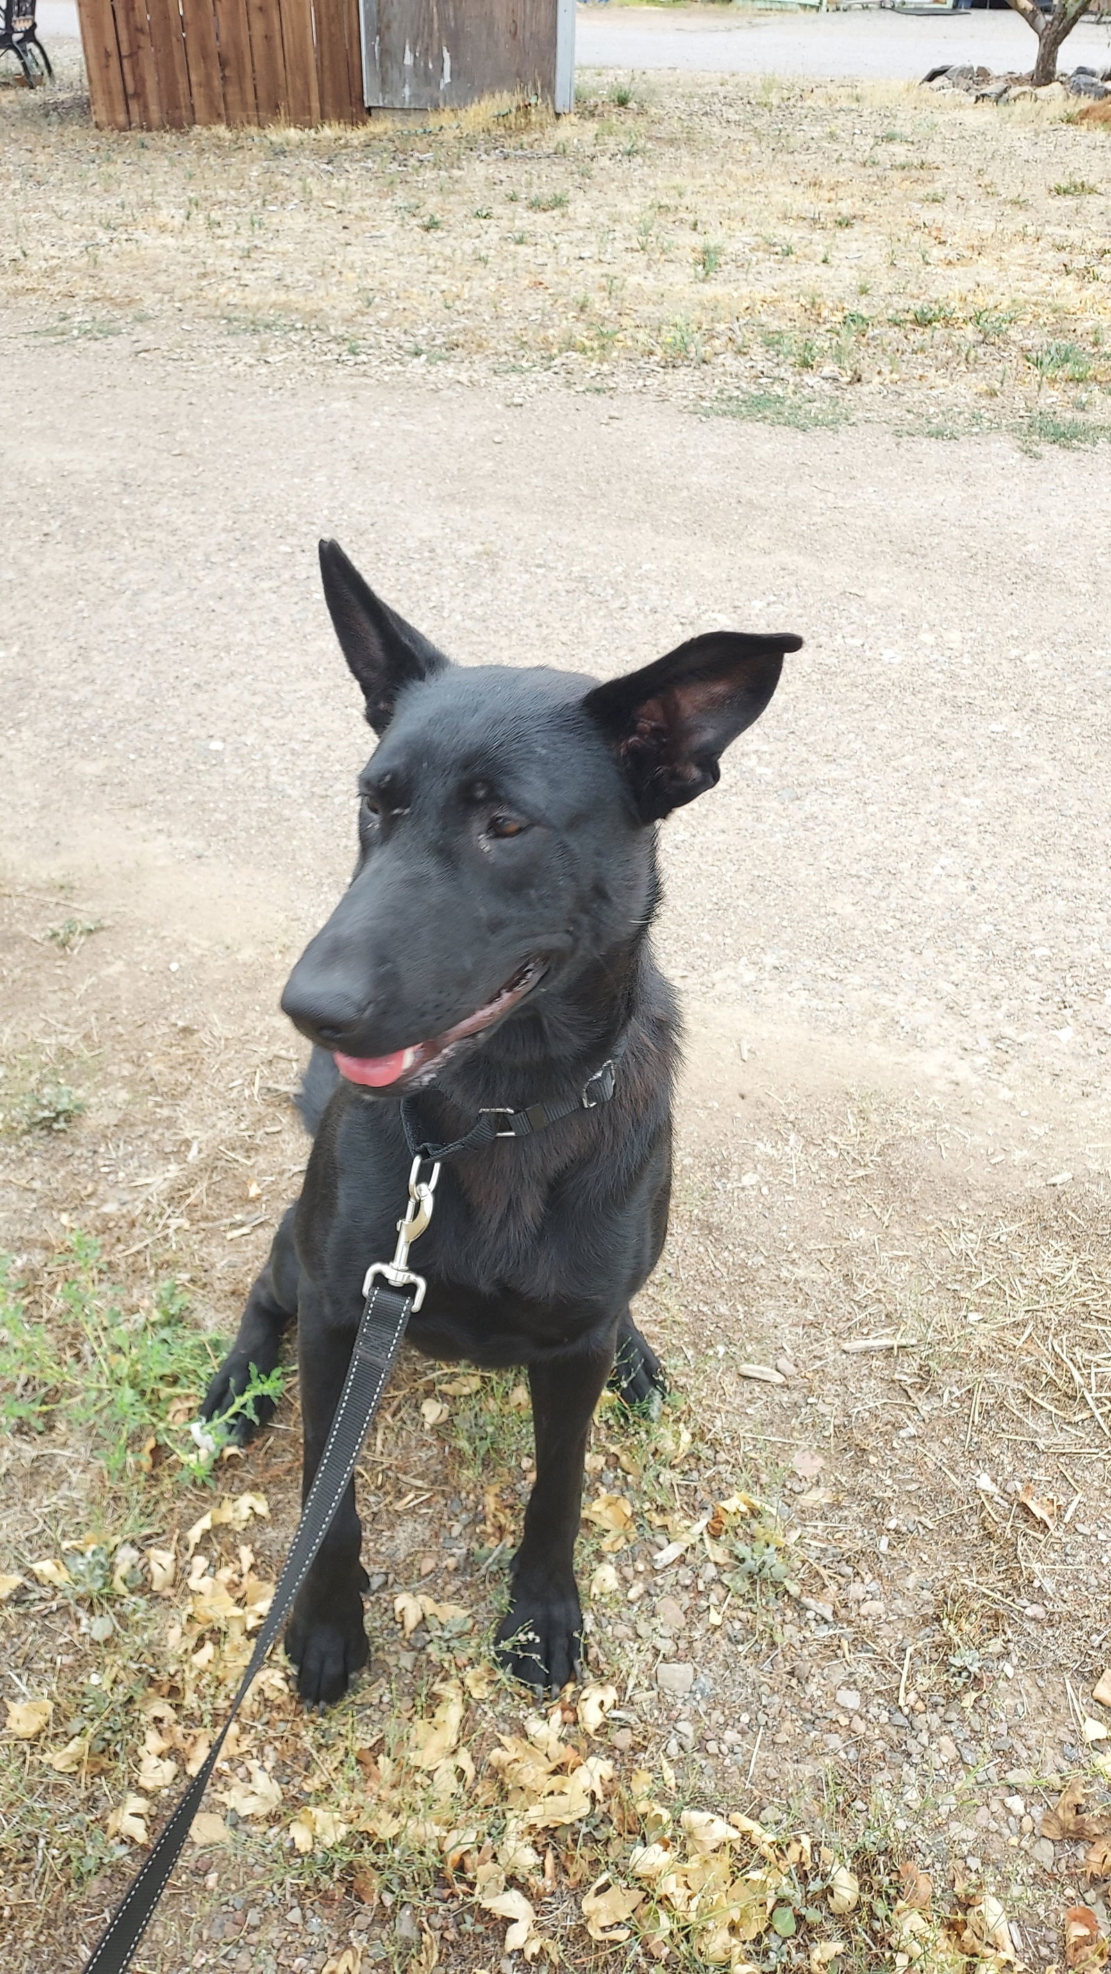
[[[712,630],[582,701],[614,748],[637,815],[655,823],[718,780],[730,740],[760,719],[801,638]]]

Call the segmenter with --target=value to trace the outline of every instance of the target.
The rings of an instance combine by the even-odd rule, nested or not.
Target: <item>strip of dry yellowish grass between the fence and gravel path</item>
[[[41,334],[1101,424],[1111,162],[1060,107],[586,77],[560,122],[114,136],[77,81],[0,95],[0,265]]]

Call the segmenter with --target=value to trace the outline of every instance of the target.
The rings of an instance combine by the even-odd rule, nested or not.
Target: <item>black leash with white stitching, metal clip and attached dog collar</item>
[[[574,1098],[564,1098],[555,1103],[533,1103],[531,1109],[525,1111],[487,1109],[481,1113],[480,1121],[452,1145],[416,1141],[416,1117],[410,1100],[403,1101],[401,1117],[408,1149],[412,1153],[408,1206],[405,1220],[397,1222],[397,1250],[393,1261],[373,1261],[363,1279],[363,1317],[351,1350],[347,1382],[343,1384],[335,1417],[332,1419],[328,1445],[324,1447],[320,1467],[316,1469],[314,1482],[300,1512],[300,1522],[296,1526],[282,1575],[278,1577],[274,1599],[255,1640],[251,1664],[239,1682],[239,1692],[231,1702],[229,1715],[213,1741],[203,1769],[197,1771],[189,1788],[176,1804],[170,1820],[160,1830],[154,1850],[144,1860],[140,1871],[120,1899],[105,1933],[93,1948],[91,1958],[85,1962],[83,1974],[126,1974],[126,1968],[130,1968],[132,1954],[154,1919],[158,1901],[170,1881],[170,1873],[182,1856],[185,1838],[189,1836],[189,1826],[201,1806],[205,1788],[209,1786],[213,1769],[227,1739],[227,1731],[251,1692],[255,1676],[262,1670],[266,1652],[278,1636],[290,1605],[312,1569],[328,1530],[332,1528],[343,1490],[355,1473],[355,1463],[363,1451],[371,1419],[379,1409],[387,1378],[408,1327],[408,1319],[424,1301],[424,1277],[414,1275],[405,1263],[408,1259],[410,1244],[424,1232],[432,1218],[440,1163],[444,1159],[454,1159],[464,1151],[472,1151],[478,1145],[487,1145],[495,1137],[527,1137],[533,1131],[543,1131],[549,1123],[556,1123],[560,1117],[570,1117],[574,1111],[596,1109],[598,1103],[608,1103],[614,1096],[616,1068],[626,1052],[626,1046],[628,1036],[622,1036],[614,1054],[602,1064],[600,1070],[594,1070],[594,1076],[588,1078],[586,1086]],[[501,1125],[493,1119],[501,1119]]]

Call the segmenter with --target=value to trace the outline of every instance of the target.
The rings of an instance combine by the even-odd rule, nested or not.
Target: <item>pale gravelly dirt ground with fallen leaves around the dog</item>
[[[304,1161],[276,997],[365,752],[335,533],[464,661],[807,644],[665,831],[689,1062],[639,1321],[675,1392],[598,1421],[592,1698],[535,1719],[485,1672],[513,1382],[408,1362],[361,1477],[369,1674],[324,1719],[274,1674],[138,1966],[1097,1966],[1062,1923],[1107,1933],[1101,452],[706,418],[647,371],[247,359],[193,300],[41,336],[73,266],[0,318],[0,1342],[24,1309],[57,1360],[4,1394],[57,1404],[0,1451],[14,1964],[97,1936],[296,1514],[296,1392],[211,1486],[174,1433]]]

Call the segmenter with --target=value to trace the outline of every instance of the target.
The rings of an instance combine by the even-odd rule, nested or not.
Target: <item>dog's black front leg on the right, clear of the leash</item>
[[[614,1334],[602,1346],[529,1368],[537,1482],[513,1557],[509,1611],[497,1627],[497,1656],[535,1692],[558,1692],[582,1670],[574,1540],[590,1419],[612,1368]]]

